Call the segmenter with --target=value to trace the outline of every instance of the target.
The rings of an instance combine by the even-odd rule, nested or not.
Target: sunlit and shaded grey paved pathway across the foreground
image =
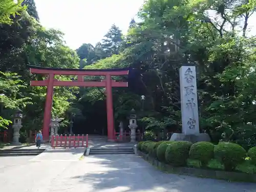
[[[0,157],[4,192],[256,192],[256,184],[165,174],[136,155],[79,160],[81,149],[47,150],[36,157]],[[17,161],[12,158],[18,158]],[[12,163],[11,163],[12,162]]]

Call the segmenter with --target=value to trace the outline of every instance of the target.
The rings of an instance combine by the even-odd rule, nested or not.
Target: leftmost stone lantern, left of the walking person
[[[20,145],[21,143],[19,142],[19,130],[22,128],[22,111],[17,110],[14,114],[14,121],[12,125],[13,129],[13,140],[12,144],[13,145]]]

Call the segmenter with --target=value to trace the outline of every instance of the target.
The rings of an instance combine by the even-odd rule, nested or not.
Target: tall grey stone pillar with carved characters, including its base
[[[171,141],[210,141],[206,133],[199,131],[197,78],[195,66],[182,66],[180,68],[180,96],[182,133],[173,134]]]

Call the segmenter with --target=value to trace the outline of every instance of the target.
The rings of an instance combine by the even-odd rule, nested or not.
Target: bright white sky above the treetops
[[[59,29],[72,49],[83,43],[95,45],[115,24],[125,34],[131,19],[138,13],[143,0],[35,0],[40,23],[46,28]],[[249,19],[250,35],[256,35]]]

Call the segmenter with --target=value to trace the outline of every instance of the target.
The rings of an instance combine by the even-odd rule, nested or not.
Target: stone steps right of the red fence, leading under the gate
[[[91,148],[89,155],[133,155],[132,147]]]

